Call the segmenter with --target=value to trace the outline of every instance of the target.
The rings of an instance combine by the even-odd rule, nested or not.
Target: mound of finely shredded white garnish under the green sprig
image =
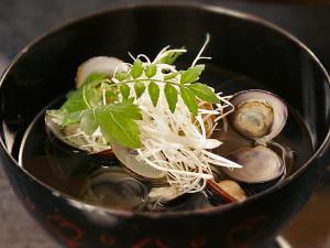
[[[167,48],[165,47],[154,62],[166,55]],[[185,50],[178,51],[185,52]],[[201,57],[201,52],[194,61],[194,65],[199,58],[208,58]],[[145,55],[140,54],[138,57],[145,58],[144,65],[150,64]],[[134,103],[141,108],[143,116],[143,120],[139,121],[142,148],[138,149],[136,160],[143,160],[150,166],[166,172],[167,182],[178,195],[199,192],[204,190],[208,180],[213,179],[211,165],[241,168],[209,151],[221,145],[221,141],[210,139],[208,136],[215,130],[217,122],[233,110],[233,106],[229,101],[230,96],[223,97],[217,94],[220,103],[208,109],[204,107],[204,103],[200,103],[198,115],[193,118],[183,99],[178,97],[176,109],[170,112],[163,90],[165,86],[162,83],[164,82],[163,69],[177,72],[173,65],[157,64],[157,73],[152,78],[161,89],[156,107],[153,106],[147,91]],[[176,78],[178,82],[179,77],[178,74]],[[147,77],[142,76],[141,79],[147,79]],[[175,84],[174,86],[179,91],[179,86]],[[134,90],[131,90],[131,96],[134,94]],[[152,194],[150,197],[155,197],[155,195],[157,194]],[[166,200],[164,195],[162,197]]]

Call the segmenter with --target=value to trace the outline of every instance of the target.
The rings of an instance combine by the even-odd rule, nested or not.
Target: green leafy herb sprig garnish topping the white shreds
[[[153,63],[143,63],[138,58],[128,71],[117,72],[112,78],[103,73],[92,73],[78,89],[67,95],[61,109],[48,110],[47,115],[56,118],[63,127],[78,125],[87,136],[100,130],[102,138],[109,143],[140,148],[140,128],[136,121],[142,120],[142,115],[138,99],[145,94],[154,107],[158,105],[161,94],[164,94],[170,112],[175,112],[182,97],[191,116],[198,115],[200,100],[219,103],[210,87],[197,83],[205,65],[194,65],[186,71],[176,71],[172,66],[184,52],[185,50],[165,48]],[[135,95],[131,95],[131,90]]]

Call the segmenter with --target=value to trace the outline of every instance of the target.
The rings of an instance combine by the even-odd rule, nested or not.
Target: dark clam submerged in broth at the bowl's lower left
[[[85,201],[117,209],[141,209],[147,197],[147,187],[123,169],[100,168],[89,176],[81,192]]]

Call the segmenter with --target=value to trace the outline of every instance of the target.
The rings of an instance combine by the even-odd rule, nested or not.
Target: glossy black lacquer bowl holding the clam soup
[[[249,76],[304,120],[312,155],[284,182],[240,204],[177,213],[132,213],[80,203],[18,164],[22,133],[48,103],[74,87],[77,65],[96,55],[128,58],[186,45],[191,61],[206,33],[212,67]],[[216,79],[213,82],[217,82]],[[217,85],[212,85],[217,87]],[[306,203],[329,141],[329,77],[304,44],[254,17],[208,6],[136,6],[56,29],[24,48],[1,79],[1,163],[26,209],[64,247],[254,247]],[[22,230],[33,231],[33,230]]]

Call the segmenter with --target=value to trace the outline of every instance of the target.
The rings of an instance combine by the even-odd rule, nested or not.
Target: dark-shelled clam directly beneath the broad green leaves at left
[[[61,129],[50,115],[46,115],[45,122],[47,161],[61,179],[87,175],[101,165],[119,164],[109,144],[89,145],[86,137],[77,136],[77,125]]]

